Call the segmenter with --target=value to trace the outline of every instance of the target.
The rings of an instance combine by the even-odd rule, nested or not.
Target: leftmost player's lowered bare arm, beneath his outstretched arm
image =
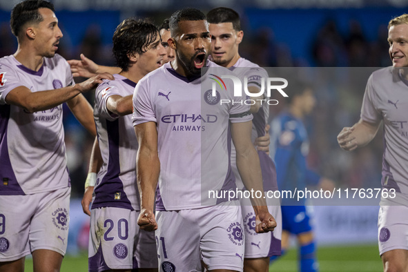
[[[93,118],[93,108],[84,95],[78,95],[66,102],[72,113],[75,115],[79,123],[94,137],[97,135],[97,129]]]

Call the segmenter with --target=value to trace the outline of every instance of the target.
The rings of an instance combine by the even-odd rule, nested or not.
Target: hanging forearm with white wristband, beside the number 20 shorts
[[[90,215],[89,206],[90,202],[92,202],[93,189],[97,181],[97,173],[99,172],[102,164],[103,159],[101,156],[101,150],[99,149],[98,139],[95,137],[92,153],[90,153],[88,177],[86,177],[84,197],[82,197],[81,201],[82,210],[87,215]]]

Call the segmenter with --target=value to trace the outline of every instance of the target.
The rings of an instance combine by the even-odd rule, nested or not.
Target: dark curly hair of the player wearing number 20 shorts
[[[129,57],[146,52],[158,35],[157,27],[146,20],[130,18],[122,21],[112,38],[117,66],[127,71],[130,67]]]

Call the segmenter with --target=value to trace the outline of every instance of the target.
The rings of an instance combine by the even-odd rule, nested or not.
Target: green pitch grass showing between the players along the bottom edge
[[[297,254],[295,249],[290,249],[282,258],[270,266],[269,271],[298,271]],[[378,255],[377,244],[364,246],[321,246],[318,249],[318,260],[321,272],[382,272],[382,263]],[[32,260],[30,258],[26,259],[25,271],[32,272]],[[67,255],[64,258],[61,272],[71,271],[88,271],[88,257],[86,254],[78,256]]]

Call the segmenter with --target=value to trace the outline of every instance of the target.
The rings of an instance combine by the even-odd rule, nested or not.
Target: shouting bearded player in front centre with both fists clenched
[[[175,60],[146,75],[133,96],[139,140],[138,224],[156,230],[160,271],[201,271],[201,260],[208,271],[242,271],[239,202],[206,195],[210,190],[235,188],[226,152],[231,136],[244,184],[263,190],[259,158],[251,142],[252,116],[249,106],[214,103],[220,98],[242,99],[233,97],[232,84],[226,86],[228,92],[217,91],[217,98],[205,91],[213,81],[208,70],[201,75],[202,68],[231,74],[207,61],[211,35],[205,15],[191,8],[179,10],[170,19],[170,30],[168,44],[175,50]],[[256,231],[273,231],[276,222],[264,199],[254,199],[253,205]]]

